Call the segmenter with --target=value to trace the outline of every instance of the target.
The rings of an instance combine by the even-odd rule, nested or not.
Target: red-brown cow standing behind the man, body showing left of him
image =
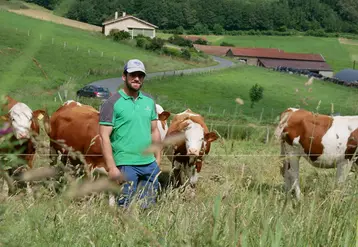
[[[158,128],[166,131],[166,120],[170,113],[162,111],[158,114]],[[70,100],[65,102],[56,112],[54,112],[49,122],[50,128],[47,128],[47,134],[50,137],[52,165],[56,162],[58,152],[63,156],[61,161],[66,164],[69,159],[72,165],[78,165],[82,162],[79,159],[68,157],[69,151],[64,147],[71,147],[73,151],[85,154],[85,161],[89,167],[85,170],[92,177],[94,173],[108,175],[108,168],[102,155],[102,147],[99,136],[99,111],[95,108],[83,105],[79,102]],[[114,198],[110,198],[110,205],[114,204]]]

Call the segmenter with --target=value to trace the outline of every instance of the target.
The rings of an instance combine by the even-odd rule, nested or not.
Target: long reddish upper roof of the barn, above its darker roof
[[[232,48],[231,52],[234,56],[241,57],[257,57],[257,58],[274,58],[289,60],[305,60],[324,62],[324,58],[320,54],[304,54],[304,53],[288,53],[282,50],[263,50],[263,49],[242,49]]]

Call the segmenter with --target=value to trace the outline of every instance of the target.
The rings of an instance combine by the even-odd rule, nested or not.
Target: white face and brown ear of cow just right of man
[[[208,143],[218,139],[218,136],[215,132],[204,133],[204,128],[192,120],[186,120],[186,122],[188,125],[184,128],[184,131],[187,154],[199,156],[201,155],[200,151],[204,151]]]

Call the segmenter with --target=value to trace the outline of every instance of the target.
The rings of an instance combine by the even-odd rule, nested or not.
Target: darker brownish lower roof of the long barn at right
[[[331,67],[326,62],[321,61],[299,61],[289,59],[267,59],[260,58],[259,61],[265,68],[276,68],[278,66],[290,67],[295,69],[307,69],[307,70],[320,70],[320,71],[332,71]]]

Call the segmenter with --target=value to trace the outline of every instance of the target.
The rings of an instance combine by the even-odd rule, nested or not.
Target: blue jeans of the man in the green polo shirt
[[[126,179],[122,195],[117,201],[118,206],[128,207],[137,190],[138,198],[143,200],[142,208],[148,208],[150,204],[156,202],[159,187],[157,175],[160,171],[156,161],[148,165],[127,165],[117,166],[117,168]]]

